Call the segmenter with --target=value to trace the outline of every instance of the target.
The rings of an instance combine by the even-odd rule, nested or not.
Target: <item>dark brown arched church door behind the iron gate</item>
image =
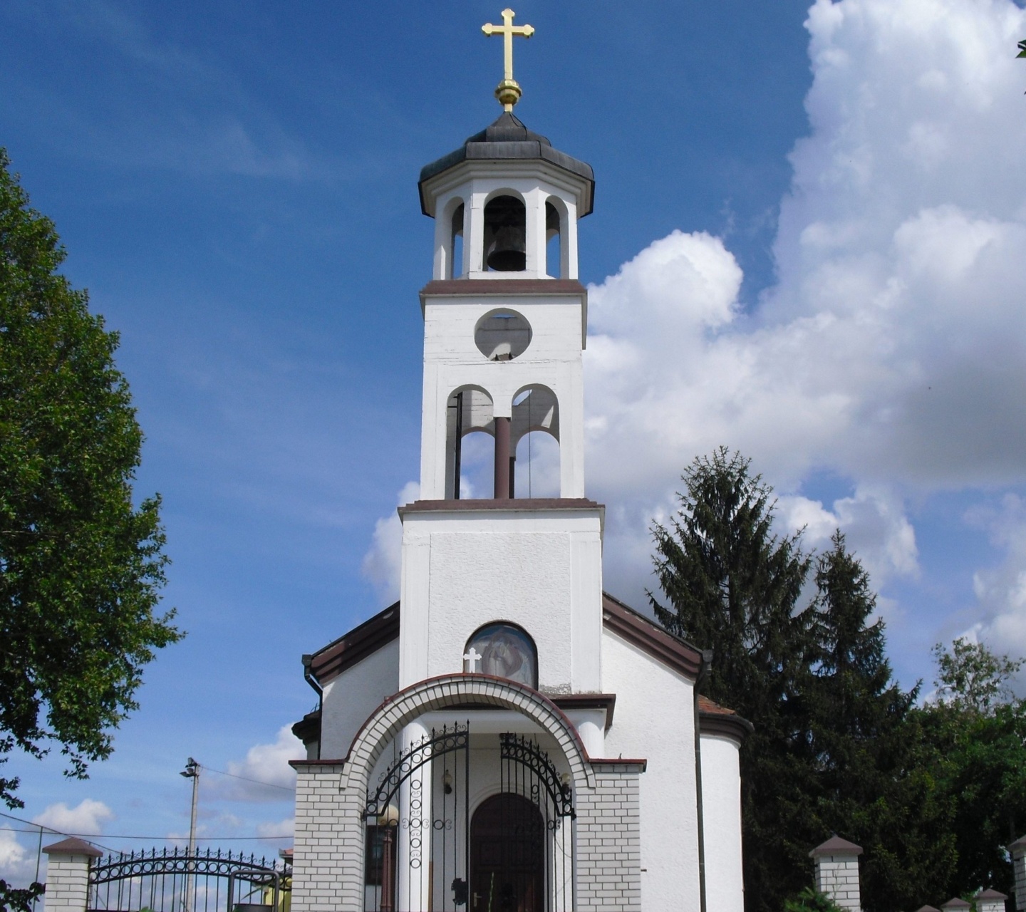
[[[545,912],[545,821],[521,795],[492,795],[474,811],[469,912]]]

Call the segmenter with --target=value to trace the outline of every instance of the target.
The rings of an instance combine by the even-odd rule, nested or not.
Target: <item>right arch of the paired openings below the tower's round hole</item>
[[[516,497],[560,497],[559,401],[552,390],[536,384],[513,397],[511,436]]]

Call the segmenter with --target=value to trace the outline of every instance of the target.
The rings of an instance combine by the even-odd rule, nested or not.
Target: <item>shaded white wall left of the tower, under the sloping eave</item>
[[[367,716],[398,689],[398,639],[328,681],[321,703],[321,758],[346,756]]]

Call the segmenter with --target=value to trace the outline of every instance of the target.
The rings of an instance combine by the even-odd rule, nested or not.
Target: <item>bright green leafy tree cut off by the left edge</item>
[[[160,502],[132,503],[143,437],[118,336],[57,273],[64,259],[0,150],[0,762],[57,744],[83,778],[181,634],[173,611],[155,613]],[[17,785],[0,778],[10,807]]]

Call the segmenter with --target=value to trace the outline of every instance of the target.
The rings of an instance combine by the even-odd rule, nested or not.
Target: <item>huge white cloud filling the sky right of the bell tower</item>
[[[650,585],[650,517],[720,444],[810,544],[840,526],[877,584],[918,572],[911,494],[1026,481],[1026,11],[817,0],[806,28],[812,131],[778,283],[745,314],[723,242],[673,232],[590,289],[589,488],[613,505],[606,576],[629,596]],[[812,471],[854,493],[798,497]],[[1026,602],[1021,568],[983,574],[982,602]]]

